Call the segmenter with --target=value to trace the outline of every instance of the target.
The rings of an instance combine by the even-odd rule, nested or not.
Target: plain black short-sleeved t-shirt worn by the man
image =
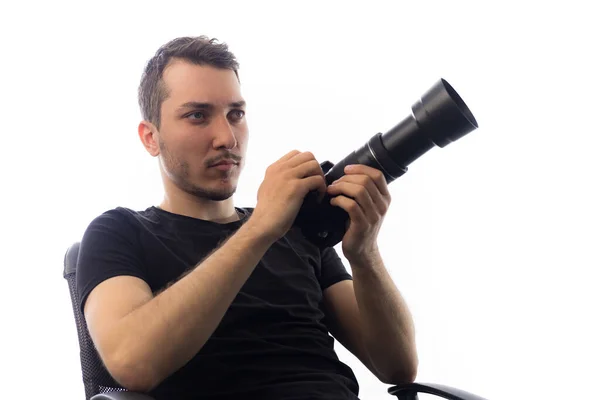
[[[105,279],[131,275],[153,293],[207,257],[250,216],[218,224],[157,207],[95,218],[77,265],[80,309]],[[357,399],[358,382],[333,350],[323,290],[352,279],[333,248],[292,228],[256,266],[200,351],[151,394],[162,399]],[[160,346],[160,343],[156,343]]]

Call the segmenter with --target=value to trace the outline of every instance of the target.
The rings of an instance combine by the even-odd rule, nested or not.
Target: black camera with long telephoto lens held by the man
[[[337,164],[321,163],[327,186],[344,175],[344,167],[362,164],[380,170],[389,184],[408,165],[434,146],[445,147],[478,128],[475,117],[454,88],[440,79],[412,106],[412,114],[382,134],[377,133]],[[349,216],[332,206],[330,196],[319,201],[309,193],[294,221],[304,236],[320,248],[338,244],[348,228]]]

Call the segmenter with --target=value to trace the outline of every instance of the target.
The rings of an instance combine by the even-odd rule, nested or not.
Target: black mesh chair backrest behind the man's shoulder
[[[113,377],[108,373],[102,363],[94,342],[90,338],[87,324],[83,313],[79,310],[79,301],[75,285],[77,274],[77,258],[79,256],[79,242],[71,245],[64,259],[63,277],[69,284],[71,294],[71,304],[73,314],[75,315],[75,324],[77,325],[77,336],[79,338],[79,355],[81,360],[81,373],[83,375],[83,385],[85,387],[85,398],[89,400],[98,393],[108,393],[116,391],[125,391]]]

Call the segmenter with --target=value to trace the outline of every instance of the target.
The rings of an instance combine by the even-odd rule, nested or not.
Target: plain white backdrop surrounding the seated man
[[[136,133],[139,77],[164,42],[206,34],[237,55],[249,103],[240,206],[287,151],[338,161],[446,78],[480,128],[390,185],[381,232],[414,314],[417,381],[489,399],[598,398],[586,388],[600,372],[595,7],[2,3],[3,397],[84,398],[64,252],[99,213],[161,200]],[[391,398],[338,349],[361,398]]]

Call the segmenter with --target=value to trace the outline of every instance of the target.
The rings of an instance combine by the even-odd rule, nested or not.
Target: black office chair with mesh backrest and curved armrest
[[[73,314],[77,325],[81,372],[86,400],[155,400],[146,394],[127,391],[113,379],[100,360],[100,356],[90,338],[85,318],[78,306],[75,288],[78,254],[79,242],[76,242],[69,247],[65,254],[63,277],[69,283]],[[388,392],[400,400],[418,400],[417,393],[433,394],[449,400],[485,400],[483,397],[439,384],[409,383],[393,386],[388,389]]]

